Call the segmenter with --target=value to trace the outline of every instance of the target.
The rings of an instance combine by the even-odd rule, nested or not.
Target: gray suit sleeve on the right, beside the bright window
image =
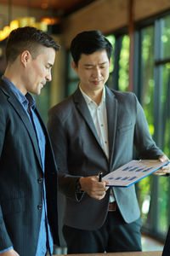
[[[141,159],[158,159],[158,156],[164,154],[152,139],[149,126],[144,115],[144,109],[139,101],[136,100],[136,125],[134,129],[134,144],[139,152]]]

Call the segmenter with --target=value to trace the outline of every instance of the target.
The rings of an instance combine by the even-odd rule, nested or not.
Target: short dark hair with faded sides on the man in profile
[[[5,51],[6,61],[7,63],[13,63],[24,50],[29,50],[32,57],[36,58],[40,46],[59,50],[59,44],[53,38],[33,26],[14,29],[8,36]]]

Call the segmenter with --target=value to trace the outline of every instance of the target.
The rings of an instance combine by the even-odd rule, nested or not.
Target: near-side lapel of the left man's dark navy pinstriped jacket
[[[15,112],[18,114],[21,121],[23,122],[23,124],[26,127],[26,130],[31,138],[33,148],[35,149],[35,152],[37,154],[37,159],[39,160],[40,166],[42,167],[40,152],[39,152],[39,148],[38,148],[38,144],[37,144],[37,137],[36,137],[34,128],[31,125],[31,120],[29,119],[28,115],[26,114],[25,109],[21,106],[21,103],[18,101],[18,99],[14,96],[14,94],[10,90],[8,90],[8,86],[4,83],[2,85],[3,86],[1,88],[2,88],[3,92],[8,96],[8,98],[7,98],[8,102],[13,106]]]

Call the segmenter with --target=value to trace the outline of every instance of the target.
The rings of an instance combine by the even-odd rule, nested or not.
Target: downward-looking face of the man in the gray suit
[[[80,78],[80,85],[85,93],[101,91],[109,78],[110,61],[104,50],[91,55],[81,55],[78,65],[72,62],[72,67]]]

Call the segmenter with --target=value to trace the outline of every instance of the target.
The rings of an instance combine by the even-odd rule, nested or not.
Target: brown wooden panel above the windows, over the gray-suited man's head
[[[134,0],[133,18],[143,20],[170,9],[169,0]],[[78,32],[99,29],[113,32],[128,26],[128,0],[97,0],[63,20],[62,44],[69,47]]]

